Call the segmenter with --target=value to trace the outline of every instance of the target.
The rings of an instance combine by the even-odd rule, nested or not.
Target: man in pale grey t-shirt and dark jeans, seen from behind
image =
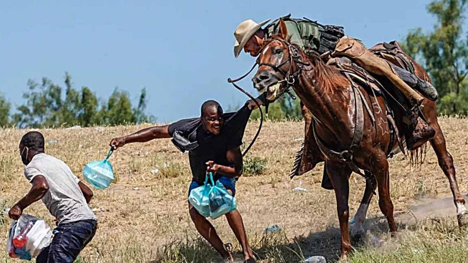
[[[98,220],[88,206],[93,192],[64,162],[45,154],[44,136],[38,131],[21,138],[20,156],[24,176],[33,186],[8,215],[18,220],[26,207],[41,199],[57,218],[57,228],[52,244],[41,251],[36,262],[73,263],[96,233]]]

